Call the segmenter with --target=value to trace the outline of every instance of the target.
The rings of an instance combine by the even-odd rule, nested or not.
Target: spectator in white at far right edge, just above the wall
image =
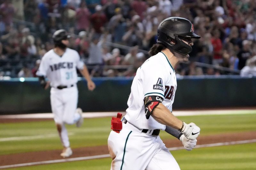
[[[256,77],[256,55],[247,59],[246,65],[240,72],[242,77]]]

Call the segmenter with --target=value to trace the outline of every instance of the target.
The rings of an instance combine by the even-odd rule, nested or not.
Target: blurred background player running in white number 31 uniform
[[[44,89],[51,86],[51,107],[63,145],[63,151],[60,154],[63,158],[72,155],[65,124],[76,123],[76,126],[80,127],[83,123],[82,109],[76,108],[78,100],[76,68],[87,80],[88,89],[92,91],[95,88],[79,54],[75,50],[67,48],[69,37],[65,30],[58,30],[53,34],[55,48],[43,56],[36,72]],[[46,81],[45,77],[49,81]]]

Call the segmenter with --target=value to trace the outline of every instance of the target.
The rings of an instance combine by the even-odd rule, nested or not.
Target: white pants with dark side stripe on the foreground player
[[[132,124],[123,123],[120,133],[108,137],[111,170],[180,170],[159,136],[147,135]]]

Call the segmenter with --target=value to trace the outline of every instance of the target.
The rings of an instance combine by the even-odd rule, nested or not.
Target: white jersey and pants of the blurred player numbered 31
[[[83,67],[84,63],[80,61],[80,56],[75,50],[66,48],[64,54],[59,56],[52,49],[43,56],[36,72],[37,76],[47,77],[52,86],[50,96],[52,113],[55,123],[61,125],[60,140],[66,148],[70,144],[65,124],[74,124],[81,117],[76,112],[78,100],[76,68],[83,69]],[[56,88],[60,85],[68,88]]]

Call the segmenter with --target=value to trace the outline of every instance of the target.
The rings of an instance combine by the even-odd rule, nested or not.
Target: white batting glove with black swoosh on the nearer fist
[[[186,124],[183,122],[183,126],[180,131],[183,133],[183,135],[185,135],[185,137],[191,140],[196,139],[200,134],[200,128],[196,126],[195,123]]]

